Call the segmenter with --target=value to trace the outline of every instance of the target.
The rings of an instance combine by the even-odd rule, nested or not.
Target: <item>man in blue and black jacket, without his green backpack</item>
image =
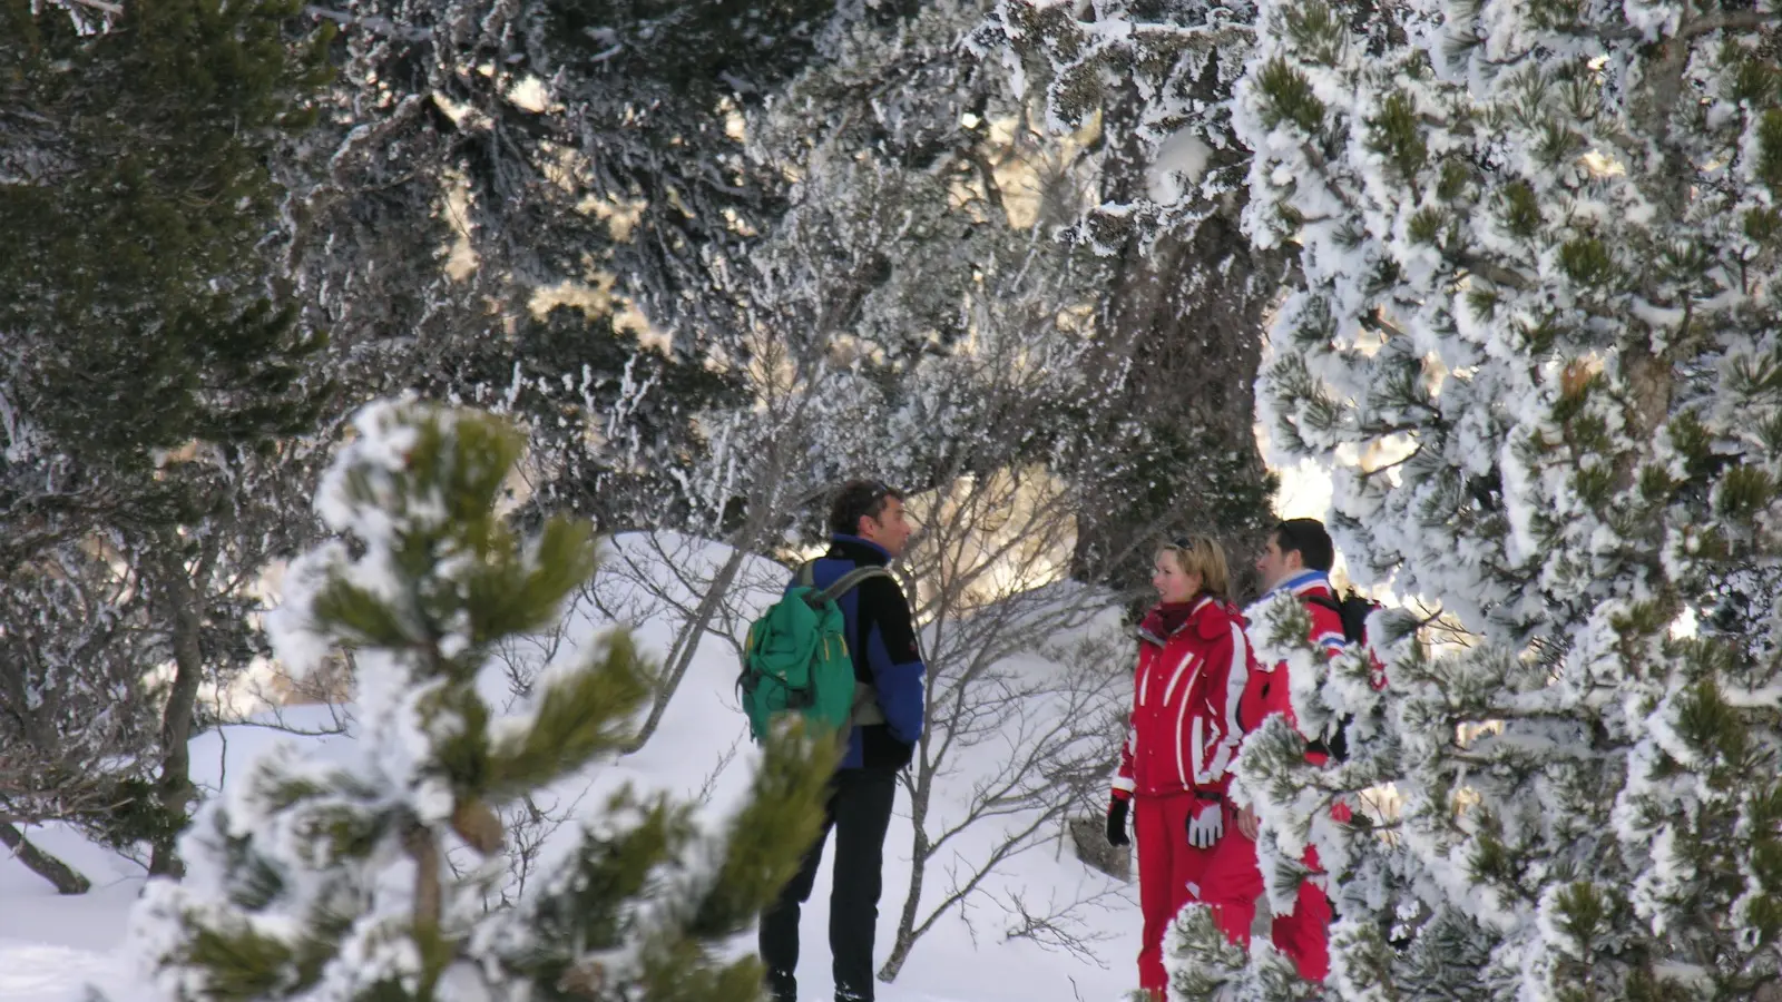
[[[829,553],[813,567],[813,585],[827,588],[857,567],[886,567],[903,553],[911,526],[903,494],[875,480],[845,483],[829,513]],[[797,583],[797,581],[795,581]],[[788,585],[791,588],[793,585]],[[909,765],[927,715],[927,669],[903,588],[889,574],[871,576],[836,604],[854,656],[855,710],[848,751],[830,779],[823,831],[804,856],[798,875],[761,915],[761,965],[775,1002],[798,997],[798,916],[836,831],[834,886],[829,897],[829,950],[838,1002],[871,1002],[873,932],[886,831],[896,776]]]

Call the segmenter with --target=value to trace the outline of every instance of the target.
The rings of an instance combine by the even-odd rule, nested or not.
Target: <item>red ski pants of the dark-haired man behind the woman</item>
[[[1214,858],[1201,881],[1201,899],[1212,906],[1214,920],[1224,934],[1240,947],[1249,947],[1249,927],[1256,920],[1256,899],[1262,897],[1262,868],[1256,863],[1256,843],[1237,831],[1237,820],[1226,818],[1224,838],[1214,845]],[[1306,868],[1322,872],[1319,850],[1306,847]],[[1292,957],[1299,977],[1322,982],[1331,968],[1329,952],[1331,902],[1312,881],[1301,881],[1299,899],[1292,915],[1276,915],[1269,929],[1274,949]]]

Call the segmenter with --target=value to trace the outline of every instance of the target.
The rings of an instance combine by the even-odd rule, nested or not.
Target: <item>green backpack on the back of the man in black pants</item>
[[[797,585],[748,626],[743,674],[736,688],[748,715],[748,733],[759,742],[781,713],[800,713],[816,733],[845,740],[855,710],[877,710],[877,694],[854,678],[846,624],[838,599],[868,578],[891,578],[884,567],[855,567],[834,585],[814,587],[814,563],[798,569]]]

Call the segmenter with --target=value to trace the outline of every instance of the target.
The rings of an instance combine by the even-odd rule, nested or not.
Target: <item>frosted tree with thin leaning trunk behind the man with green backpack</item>
[[[948,490],[1121,455],[1057,419],[1108,421],[1124,374],[1083,321],[1098,262],[1051,237],[1080,178],[1007,100],[1003,68],[962,45],[984,2],[905,7],[855,9],[743,119],[750,169],[784,182],[786,212],[727,266],[747,317],[727,365],[745,392],[699,415],[709,449],[677,476],[704,515],[693,531],[736,549],[697,585],[665,695],[722,624],[747,553],[827,538],[838,481]]]

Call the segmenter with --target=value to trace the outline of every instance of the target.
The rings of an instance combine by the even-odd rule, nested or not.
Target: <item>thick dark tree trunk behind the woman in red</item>
[[[1139,111],[1126,84],[1107,114],[1105,203],[1146,194]],[[1153,234],[1135,225],[1124,235],[1101,326],[1114,362],[1132,362],[1124,412],[1151,440],[1098,485],[1107,503],[1078,524],[1073,574],[1082,579],[1142,585],[1153,547],[1194,533],[1224,547],[1235,597],[1255,592],[1251,562],[1272,526],[1274,494],[1256,449],[1255,383],[1281,264],[1251,250],[1240,210],[1233,198],[1194,226]]]

